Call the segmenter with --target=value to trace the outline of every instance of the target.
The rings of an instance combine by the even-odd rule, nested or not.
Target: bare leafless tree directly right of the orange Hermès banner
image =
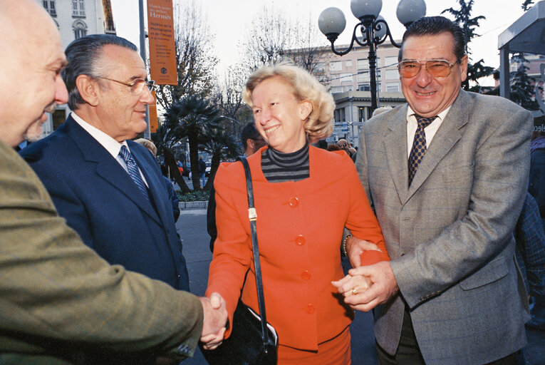
[[[158,87],[157,102],[164,109],[182,96],[208,96],[215,83],[217,63],[209,46],[213,34],[202,7],[194,0],[176,0],[173,10],[178,84]]]

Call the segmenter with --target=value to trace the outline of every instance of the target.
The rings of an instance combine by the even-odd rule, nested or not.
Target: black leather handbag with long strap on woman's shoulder
[[[254,252],[256,269],[257,299],[261,316],[239,300],[233,315],[231,336],[214,350],[205,350],[201,346],[204,359],[210,365],[276,365],[278,361],[278,336],[274,327],[266,322],[265,298],[257,245],[256,220],[254,207],[254,189],[251,185],[251,174],[246,158],[238,158],[244,166],[246,188],[248,191],[248,217],[251,229],[251,246]]]

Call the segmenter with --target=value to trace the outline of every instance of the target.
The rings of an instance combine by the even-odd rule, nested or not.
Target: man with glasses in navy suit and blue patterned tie
[[[110,264],[189,291],[182,245],[157,162],[135,138],[154,103],[137,48],[94,34],[66,48],[73,113],[21,155],[59,215]]]

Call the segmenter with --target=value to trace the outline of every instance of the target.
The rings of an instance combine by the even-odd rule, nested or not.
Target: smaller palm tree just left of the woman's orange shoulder
[[[214,128],[211,132],[208,140],[201,145],[202,150],[212,155],[210,175],[204,190],[210,190],[212,187],[214,175],[222,160],[236,158],[241,154],[240,143],[234,135],[229,134],[224,128]]]

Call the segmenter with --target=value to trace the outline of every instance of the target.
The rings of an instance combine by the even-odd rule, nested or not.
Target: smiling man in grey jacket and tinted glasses
[[[512,235],[528,183],[531,114],[467,93],[462,29],[422,18],[403,36],[408,104],[363,125],[356,167],[390,262],[337,282],[375,308],[379,364],[515,364],[529,318]],[[365,280],[370,287],[366,288]]]

